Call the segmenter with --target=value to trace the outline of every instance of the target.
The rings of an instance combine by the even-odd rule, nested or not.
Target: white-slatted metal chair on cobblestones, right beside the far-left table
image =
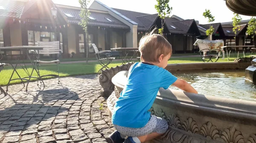
[[[44,48],[44,50],[39,50],[39,54],[38,54],[38,57],[37,59],[34,61],[35,64],[36,64],[36,67],[37,67],[37,70],[38,70],[38,79],[41,79],[41,82],[43,82],[44,84],[44,81],[42,80],[43,77],[46,77],[46,76],[52,76],[52,77],[57,77],[58,78],[58,84],[60,84],[60,76],[59,76],[59,65],[60,64],[60,60],[59,60],[59,57],[60,57],[60,53],[62,53],[62,51],[60,50],[60,45],[59,45],[59,41],[52,41],[52,42],[41,42],[41,41],[38,41],[38,46],[51,46],[51,48]],[[55,60],[53,61],[41,61],[40,60],[40,54],[47,54],[47,55],[51,55],[51,54],[54,54],[55,55]],[[57,55],[57,56],[56,56]],[[55,63],[57,65],[57,71],[58,71],[58,75],[55,75],[55,74],[49,74],[49,75],[43,75],[41,76],[40,75],[40,69],[39,67],[41,66],[41,64],[52,64],[52,63]],[[32,70],[32,73],[33,71],[35,70],[35,68],[33,68]],[[32,76],[32,73],[31,73],[31,76]],[[30,76],[30,77],[31,77]],[[30,80],[30,79],[29,79]],[[45,87],[45,84],[44,84],[44,87]]]

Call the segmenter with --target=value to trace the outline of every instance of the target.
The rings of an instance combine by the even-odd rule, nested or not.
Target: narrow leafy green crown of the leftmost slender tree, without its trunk
[[[90,3],[90,0],[79,0],[79,3],[81,5],[81,11],[79,14],[81,20],[79,25],[83,27],[84,31],[87,31],[87,22],[90,17],[90,11],[88,11],[87,6]]]

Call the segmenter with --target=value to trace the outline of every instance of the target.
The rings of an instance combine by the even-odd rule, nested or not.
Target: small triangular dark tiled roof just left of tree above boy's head
[[[137,18],[140,20],[140,22],[143,23],[145,28],[149,30],[151,29],[151,26],[154,24],[154,22],[157,20],[158,14],[150,14],[150,15],[145,15]]]

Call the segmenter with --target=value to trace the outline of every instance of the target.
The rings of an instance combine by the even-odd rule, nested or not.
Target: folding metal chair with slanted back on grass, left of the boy
[[[114,57],[111,57],[111,50],[102,50],[99,51],[98,48],[96,47],[96,45],[94,43],[92,43],[94,52],[95,52],[95,56],[97,61],[99,62],[99,64],[102,66],[102,68],[98,71],[97,75],[99,75],[102,70],[105,68],[109,68],[108,64],[110,64],[112,62],[113,59],[115,59]],[[105,53],[106,58],[101,59],[100,58],[100,54]]]

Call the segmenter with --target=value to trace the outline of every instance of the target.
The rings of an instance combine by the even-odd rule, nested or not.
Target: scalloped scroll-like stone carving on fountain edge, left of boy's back
[[[103,87],[103,90],[101,91],[102,96],[108,97],[109,95],[111,95],[111,93],[114,91],[114,84],[111,81],[113,76],[115,76],[116,73],[122,70],[129,70],[132,64],[134,64],[134,62],[111,67],[110,69],[102,71],[102,74],[99,77],[99,83]]]

